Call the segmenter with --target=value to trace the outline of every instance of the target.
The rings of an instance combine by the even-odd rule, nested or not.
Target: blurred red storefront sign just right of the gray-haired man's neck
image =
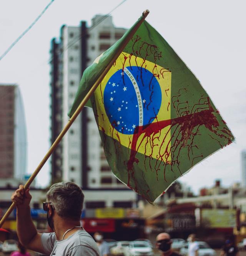
[[[115,232],[115,220],[114,219],[83,218],[80,220],[80,223],[81,223],[81,226],[88,233],[93,233],[96,231]]]

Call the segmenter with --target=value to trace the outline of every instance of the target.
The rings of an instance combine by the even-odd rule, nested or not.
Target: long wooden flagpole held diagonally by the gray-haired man
[[[68,120],[68,123],[66,124],[66,126],[63,128],[63,130],[61,131],[61,133],[58,135],[57,139],[54,141],[54,143],[52,144],[52,146],[50,147],[50,149],[48,150],[47,154],[44,156],[44,158],[42,159],[42,161],[40,162],[40,164],[38,165],[38,167],[36,168],[36,170],[33,172],[33,174],[30,176],[30,178],[28,179],[27,183],[24,185],[24,191],[31,185],[31,183],[33,182],[33,180],[36,178],[36,176],[38,175],[39,171],[41,170],[41,168],[43,167],[43,165],[46,163],[46,161],[48,160],[48,158],[50,157],[50,155],[53,153],[53,151],[55,150],[55,148],[57,147],[58,143],[62,140],[63,136],[66,134],[66,132],[68,131],[68,129],[70,128],[70,126],[73,124],[73,122],[75,121],[76,117],[80,114],[82,108],[85,106],[86,102],[90,99],[91,95],[93,94],[93,92],[96,90],[96,88],[98,87],[98,85],[100,85],[101,81],[103,80],[103,78],[105,77],[105,75],[108,73],[108,71],[110,70],[111,66],[113,66],[113,64],[115,63],[115,61],[117,60],[117,58],[120,56],[120,53],[124,50],[124,48],[126,47],[127,43],[129,42],[129,40],[133,37],[133,35],[135,34],[135,32],[138,30],[138,28],[140,27],[140,25],[143,23],[143,21],[145,20],[145,18],[147,17],[147,15],[150,13],[149,10],[145,10],[143,12],[143,17],[140,20],[140,22],[138,22],[136,24],[136,26],[133,28],[133,30],[131,31],[131,33],[129,33],[128,37],[125,39],[125,41],[122,43],[122,45],[120,46],[118,52],[116,53],[116,55],[112,58],[112,60],[110,61],[110,63],[108,64],[108,66],[106,66],[105,70],[103,70],[103,72],[101,73],[101,75],[99,76],[99,78],[96,80],[96,82],[94,83],[94,85],[91,87],[90,91],[88,91],[88,93],[86,94],[85,98],[83,98],[83,100],[81,101],[80,105],[78,106],[78,108],[76,109],[75,113],[71,116],[70,120]],[[8,208],[8,210],[6,211],[6,213],[3,215],[1,221],[0,221],[0,228],[2,227],[3,223],[5,222],[5,220],[8,218],[8,216],[10,215],[10,213],[12,213],[13,209],[15,208],[15,203],[13,202],[11,204],[11,206]]]

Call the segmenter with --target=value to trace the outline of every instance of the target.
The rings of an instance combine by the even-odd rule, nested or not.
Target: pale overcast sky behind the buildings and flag
[[[49,0],[8,0],[0,8],[0,55],[33,22]],[[63,24],[91,24],[120,0],[55,0],[36,25],[0,61],[0,83],[17,83],[27,121],[28,173],[47,153],[50,127],[50,41]],[[233,143],[196,165],[181,182],[197,192],[221,179],[225,186],[241,180],[241,151],[246,148],[246,1],[127,0],[113,13],[116,27],[129,28],[149,9],[147,21],[166,39],[201,81],[236,137]],[[0,95],[0,98],[4,95]],[[37,182],[48,185],[49,163]]]

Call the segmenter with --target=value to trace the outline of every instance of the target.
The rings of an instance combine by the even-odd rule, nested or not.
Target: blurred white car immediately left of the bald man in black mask
[[[125,256],[153,256],[153,249],[146,241],[133,241],[130,246],[125,249]]]

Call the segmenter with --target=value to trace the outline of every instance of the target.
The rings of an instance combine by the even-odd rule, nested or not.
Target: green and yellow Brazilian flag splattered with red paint
[[[69,116],[138,22],[85,70]],[[198,79],[146,21],[90,100],[111,170],[150,203],[234,140]]]

